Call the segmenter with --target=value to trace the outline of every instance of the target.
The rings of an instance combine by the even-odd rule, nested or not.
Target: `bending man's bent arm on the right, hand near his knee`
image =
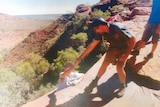
[[[123,54],[120,58],[119,58],[119,61],[125,61],[129,54],[131,53],[132,49],[134,48],[135,46],[135,43],[136,43],[136,39],[134,36],[132,36],[130,39],[129,39],[129,48],[127,49],[126,53]]]

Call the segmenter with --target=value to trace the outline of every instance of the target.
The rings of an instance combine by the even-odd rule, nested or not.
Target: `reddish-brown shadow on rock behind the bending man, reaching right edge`
[[[139,86],[144,86],[149,89],[160,90],[160,81],[155,80],[149,76],[140,75],[137,72],[149,61],[143,60],[135,64],[136,56],[132,56],[125,66],[125,71],[127,74],[127,81],[134,81]]]

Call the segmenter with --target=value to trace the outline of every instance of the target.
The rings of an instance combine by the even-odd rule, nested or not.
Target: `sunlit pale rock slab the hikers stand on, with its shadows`
[[[137,38],[141,38],[147,16],[136,15],[133,20],[123,23]],[[82,82],[58,92],[50,92],[22,107],[159,107],[160,106],[160,48],[154,57],[144,60],[151,44],[146,45],[139,56],[130,55],[125,66],[127,88],[121,98],[117,98],[115,90],[119,87],[119,79],[115,66],[110,65],[98,81],[98,86],[91,90],[88,86],[95,78],[104,56],[88,71]]]

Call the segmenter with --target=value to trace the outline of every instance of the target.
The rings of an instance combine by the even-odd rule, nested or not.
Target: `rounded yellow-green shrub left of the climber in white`
[[[38,88],[44,74],[48,72],[50,64],[41,56],[30,53],[18,63],[16,73],[30,83],[31,89]]]

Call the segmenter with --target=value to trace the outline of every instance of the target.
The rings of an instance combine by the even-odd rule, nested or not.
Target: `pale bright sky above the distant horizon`
[[[77,5],[93,5],[100,0],[0,0],[0,13],[9,15],[63,14],[75,12]]]

